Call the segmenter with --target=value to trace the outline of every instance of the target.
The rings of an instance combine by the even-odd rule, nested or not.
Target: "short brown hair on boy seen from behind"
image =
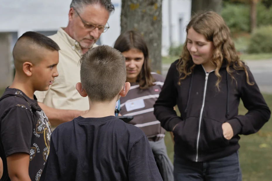
[[[125,57],[107,46],[89,49],[80,58],[80,80],[89,99],[111,101],[123,87],[127,72]]]

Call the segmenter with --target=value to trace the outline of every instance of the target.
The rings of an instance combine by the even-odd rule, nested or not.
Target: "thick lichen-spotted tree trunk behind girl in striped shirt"
[[[162,0],[122,0],[121,33],[137,30],[147,42],[153,72],[161,74]]]

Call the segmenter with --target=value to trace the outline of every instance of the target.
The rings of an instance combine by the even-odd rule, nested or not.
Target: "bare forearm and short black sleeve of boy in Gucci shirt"
[[[29,109],[13,107],[1,120],[1,142],[11,180],[29,180],[33,117]]]

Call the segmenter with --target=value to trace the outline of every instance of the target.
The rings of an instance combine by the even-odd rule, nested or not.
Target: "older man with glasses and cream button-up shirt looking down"
[[[109,15],[114,11],[110,0],[72,0],[67,27],[60,27],[52,36],[58,46],[59,76],[48,91],[35,92],[40,107],[52,126],[71,121],[89,109],[88,98],[81,97],[75,85],[80,82],[80,56],[95,44],[103,32],[109,29]]]

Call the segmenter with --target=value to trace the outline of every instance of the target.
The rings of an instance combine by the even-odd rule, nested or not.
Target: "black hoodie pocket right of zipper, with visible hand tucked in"
[[[223,122],[204,118],[202,120],[199,149],[202,151],[219,149],[229,144],[223,135]]]

